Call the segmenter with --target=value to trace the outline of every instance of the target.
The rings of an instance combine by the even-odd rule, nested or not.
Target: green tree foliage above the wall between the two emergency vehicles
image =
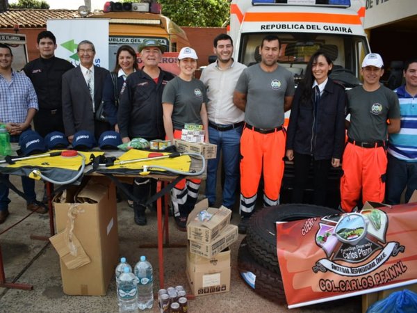
[[[158,3],[162,5],[162,14],[179,26],[221,27],[230,13],[228,0],[158,0]]]

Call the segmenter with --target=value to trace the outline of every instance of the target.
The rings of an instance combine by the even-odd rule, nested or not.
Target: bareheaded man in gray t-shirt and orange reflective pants
[[[263,38],[259,54],[261,63],[243,70],[234,91],[234,104],[245,111],[245,129],[240,139],[241,234],[245,234],[247,220],[254,211],[262,172],[264,206],[279,203],[286,139],[282,125],[295,90],[293,74],[277,63],[276,35]]]

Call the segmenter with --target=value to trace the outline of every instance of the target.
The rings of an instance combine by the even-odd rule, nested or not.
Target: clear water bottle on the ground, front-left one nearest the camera
[[[117,281],[117,300],[119,312],[138,312],[138,280],[127,266]]]

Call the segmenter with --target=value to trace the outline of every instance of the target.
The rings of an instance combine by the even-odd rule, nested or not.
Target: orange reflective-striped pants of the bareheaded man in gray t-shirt
[[[259,180],[263,173],[263,204],[279,204],[279,191],[284,175],[286,133],[276,130],[261,134],[243,129],[240,138],[240,214],[250,215],[256,204]]]

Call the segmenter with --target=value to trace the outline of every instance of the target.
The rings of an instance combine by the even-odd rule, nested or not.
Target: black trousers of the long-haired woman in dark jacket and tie
[[[291,202],[304,203],[304,190],[313,166],[313,204],[325,206],[327,195],[327,178],[332,160],[314,160],[309,154],[294,152],[294,188]]]

